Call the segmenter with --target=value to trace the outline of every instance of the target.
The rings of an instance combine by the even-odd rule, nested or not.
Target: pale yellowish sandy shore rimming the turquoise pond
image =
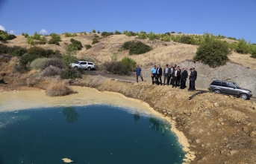
[[[128,98],[122,94],[109,91],[98,91],[94,88],[86,87],[72,87],[78,94],[71,94],[68,96],[49,97],[46,96],[45,91],[32,90],[32,91],[4,91],[0,93],[0,111],[18,111],[28,108],[47,108],[53,106],[72,106],[72,105],[93,105],[93,104],[106,104],[122,106],[129,108],[133,111],[138,111],[143,114],[154,115],[165,119],[172,124],[171,130],[178,137],[178,142],[182,145],[185,155],[184,161],[187,159],[193,160],[195,155],[190,152],[188,148],[190,144],[187,138],[181,131],[175,128],[175,122],[169,117],[163,117],[146,102],[140,99]]]

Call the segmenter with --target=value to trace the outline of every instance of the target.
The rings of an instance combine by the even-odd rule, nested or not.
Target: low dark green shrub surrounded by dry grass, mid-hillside
[[[152,47],[149,47],[149,45],[145,45],[143,42],[125,42],[124,45],[122,45],[122,48],[124,50],[130,50],[129,54],[143,54],[147,53],[150,50],[152,50]]]

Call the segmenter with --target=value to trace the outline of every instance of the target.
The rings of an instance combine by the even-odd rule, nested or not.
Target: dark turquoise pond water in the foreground
[[[110,105],[0,113],[0,163],[182,163],[171,125]]]

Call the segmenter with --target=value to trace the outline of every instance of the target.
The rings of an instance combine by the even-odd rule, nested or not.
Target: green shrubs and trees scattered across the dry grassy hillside
[[[91,33],[91,32],[90,32]],[[152,47],[146,45],[143,42],[138,41],[138,39],[148,39],[148,40],[161,40],[163,42],[180,42],[188,45],[197,45],[198,49],[196,51],[196,56],[194,56],[194,61],[201,61],[210,67],[219,67],[220,65],[225,65],[228,62],[228,55],[232,51],[241,54],[250,53],[253,58],[256,58],[256,45],[246,42],[245,39],[236,39],[234,37],[226,36],[213,36],[210,33],[205,33],[203,35],[187,35],[181,32],[175,33],[146,33],[143,30],[138,32],[125,30],[123,33],[116,30],[113,32],[104,31],[100,33],[98,30],[92,30],[93,39],[91,45],[84,45],[84,47],[89,50],[93,45],[101,42],[101,39],[107,36],[124,34],[125,36],[134,36],[136,41],[125,42],[119,51],[128,50],[130,55],[139,55],[147,53],[152,50]],[[78,36],[77,33],[63,33],[65,37],[75,37]],[[87,35],[86,32],[81,32],[79,36]],[[46,40],[46,36],[38,33],[29,36],[28,33],[22,33],[27,39],[30,45],[60,45],[61,36],[56,33],[51,33],[51,39]],[[0,30],[0,40],[1,42],[7,42],[9,39],[15,39],[16,36],[10,35],[7,32]],[[84,70],[72,70],[69,69],[69,63],[78,60],[75,56],[79,50],[83,48],[80,41],[72,38],[69,40],[71,44],[66,45],[66,53],[60,54],[59,50],[46,50],[43,47],[34,46],[26,47],[0,45],[0,53],[8,53],[12,56],[19,56],[19,65],[15,65],[13,71],[24,73],[28,70],[41,70],[43,76],[55,76],[60,75],[62,79],[75,79],[81,78],[84,74]],[[113,53],[111,56],[112,61],[105,62],[102,66],[96,65],[97,69],[105,69],[110,73],[117,73],[122,75],[130,74],[134,70],[136,62],[128,57],[125,57],[121,61],[117,61],[117,53]],[[87,56],[85,59],[94,62],[94,59]]]

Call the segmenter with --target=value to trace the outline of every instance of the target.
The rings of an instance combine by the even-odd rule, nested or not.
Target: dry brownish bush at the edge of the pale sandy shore
[[[50,87],[46,90],[46,95],[48,96],[65,96],[68,94],[73,94],[72,88],[69,88],[65,82],[52,83]]]

